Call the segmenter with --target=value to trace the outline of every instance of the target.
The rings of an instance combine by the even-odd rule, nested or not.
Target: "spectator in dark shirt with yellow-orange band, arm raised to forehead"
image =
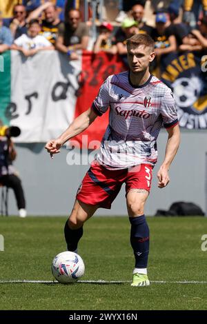
[[[58,28],[61,26],[57,7],[48,1],[31,12],[28,18],[38,19],[42,13],[45,19],[41,21],[41,34],[46,37],[52,45],[55,45]]]

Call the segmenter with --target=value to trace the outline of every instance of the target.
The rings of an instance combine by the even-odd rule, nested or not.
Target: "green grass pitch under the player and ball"
[[[0,218],[5,242],[0,252],[0,310],[207,309],[207,251],[201,250],[201,236],[207,234],[204,217],[148,217],[149,287],[130,287],[128,282],[134,267],[128,218],[96,216],[86,223],[79,243],[86,265],[81,280],[123,283],[2,283],[52,281],[52,259],[66,250],[65,221],[66,217]]]

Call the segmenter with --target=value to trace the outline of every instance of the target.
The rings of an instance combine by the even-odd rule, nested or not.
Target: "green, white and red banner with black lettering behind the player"
[[[86,52],[70,62],[56,51],[39,52],[29,59],[12,51],[4,58],[0,118],[21,129],[15,139],[21,143],[46,142],[59,136],[77,115],[90,108],[106,77],[123,70],[116,56],[104,53]],[[97,119],[84,134],[100,141],[107,125],[105,114],[101,123]]]

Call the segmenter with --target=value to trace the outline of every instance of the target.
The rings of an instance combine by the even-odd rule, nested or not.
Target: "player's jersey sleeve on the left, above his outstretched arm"
[[[92,103],[92,110],[98,115],[102,116],[104,112],[108,110],[108,107],[110,105],[110,80],[109,78],[106,79],[106,81],[103,82],[101,85],[101,88],[99,90],[99,93],[95,100]]]

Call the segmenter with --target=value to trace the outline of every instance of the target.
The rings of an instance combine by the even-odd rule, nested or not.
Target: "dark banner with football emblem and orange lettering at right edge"
[[[182,128],[207,128],[206,70],[201,56],[191,52],[168,54],[162,59],[161,80],[172,88]]]

